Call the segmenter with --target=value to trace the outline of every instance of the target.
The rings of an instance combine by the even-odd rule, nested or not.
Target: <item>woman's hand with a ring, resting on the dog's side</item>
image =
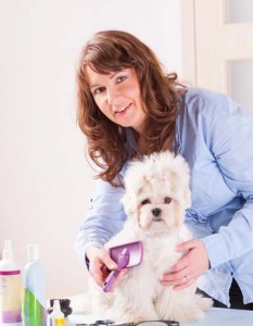
[[[204,243],[198,239],[178,244],[176,251],[186,253],[163,275],[161,284],[173,286],[174,290],[182,290],[208,269],[210,261]]]

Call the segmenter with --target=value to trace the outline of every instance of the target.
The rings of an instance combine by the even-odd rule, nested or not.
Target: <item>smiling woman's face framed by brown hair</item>
[[[132,127],[141,134],[147,113],[135,70],[102,75],[87,66],[86,74],[92,97],[103,114],[115,124]]]

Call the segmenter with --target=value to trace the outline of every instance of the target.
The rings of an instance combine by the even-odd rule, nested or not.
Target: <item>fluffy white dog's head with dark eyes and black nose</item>
[[[123,204],[129,218],[151,234],[180,227],[190,206],[189,168],[169,152],[146,156],[130,165]]]

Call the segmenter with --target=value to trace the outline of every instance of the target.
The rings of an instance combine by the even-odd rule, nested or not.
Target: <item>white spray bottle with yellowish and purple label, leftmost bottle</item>
[[[10,240],[0,261],[0,325],[22,325],[21,269]]]

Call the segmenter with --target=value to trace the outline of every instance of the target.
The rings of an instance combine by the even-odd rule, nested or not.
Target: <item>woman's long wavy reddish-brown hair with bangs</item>
[[[146,146],[141,149],[139,135],[132,129],[137,146],[131,156],[174,151],[179,102],[177,74],[165,74],[153,51],[126,32],[99,32],[84,47],[77,71],[77,122],[87,137],[89,156],[102,168],[98,177],[119,186],[118,173],[129,158],[126,128],[111,122],[96,104],[87,82],[87,66],[99,74],[124,68],[134,68],[137,74],[148,120],[141,135]]]

